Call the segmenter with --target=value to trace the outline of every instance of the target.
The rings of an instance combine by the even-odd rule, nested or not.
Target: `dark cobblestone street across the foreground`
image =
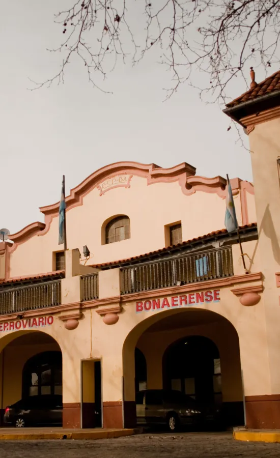
[[[1,441],[1,458],[279,457],[280,444],[235,441],[231,433],[143,434],[94,441]]]

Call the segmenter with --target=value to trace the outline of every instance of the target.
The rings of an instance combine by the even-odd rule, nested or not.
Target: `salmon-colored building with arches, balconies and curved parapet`
[[[269,109],[248,129],[255,190],[231,179],[246,270],[225,229],[225,178],[186,163],[95,171],[66,198],[66,252],[59,203],[0,243],[2,413],[62,394],[64,427],[130,427],[135,391],[173,388],[215,403],[228,426],[280,427],[280,108]]]

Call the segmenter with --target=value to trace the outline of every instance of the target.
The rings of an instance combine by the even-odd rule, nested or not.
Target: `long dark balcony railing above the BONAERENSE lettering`
[[[121,269],[121,294],[157,290],[230,277],[233,275],[231,247],[185,254],[175,259],[144,263]]]

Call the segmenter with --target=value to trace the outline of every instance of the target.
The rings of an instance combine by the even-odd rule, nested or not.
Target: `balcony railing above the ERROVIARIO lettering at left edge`
[[[0,290],[0,315],[61,304],[61,280]]]

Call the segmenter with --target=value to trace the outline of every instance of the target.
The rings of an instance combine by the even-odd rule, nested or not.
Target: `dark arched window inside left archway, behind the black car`
[[[30,358],[22,371],[22,397],[62,394],[62,354],[44,352]]]

